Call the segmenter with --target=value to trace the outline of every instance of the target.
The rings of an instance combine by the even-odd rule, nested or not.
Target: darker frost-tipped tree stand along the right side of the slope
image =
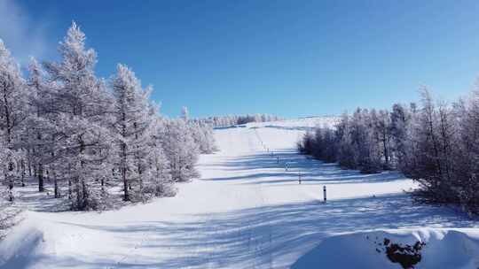
[[[345,113],[335,127],[303,135],[298,149],[363,173],[397,169],[420,183],[421,201],[479,213],[479,91],[453,104],[435,102],[427,88],[420,95],[419,105]]]

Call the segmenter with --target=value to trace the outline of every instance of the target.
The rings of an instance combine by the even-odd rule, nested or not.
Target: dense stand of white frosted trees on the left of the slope
[[[175,182],[199,176],[199,154],[215,150],[212,127],[188,119],[185,109],[181,119],[162,117],[153,88],[130,67],[119,64],[110,78],[98,78],[85,40],[74,22],[59,43],[59,61],[32,58],[27,72],[0,41],[5,212],[16,188],[28,184],[75,211],[174,196]]]

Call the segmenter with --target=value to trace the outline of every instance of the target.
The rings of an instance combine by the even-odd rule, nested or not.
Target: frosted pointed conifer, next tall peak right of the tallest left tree
[[[148,158],[156,129],[153,126],[155,115],[149,111],[151,88],[143,89],[135,73],[125,65],[118,65],[112,87],[116,101],[113,127],[114,133],[118,134],[115,140],[118,153],[115,155],[119,159],[116,163],[122,178],[123,200],[130,201],[130,190],[143,198],[145,180],[152,168]],[[153,150],[154,158],[162,158],[159,150]]]

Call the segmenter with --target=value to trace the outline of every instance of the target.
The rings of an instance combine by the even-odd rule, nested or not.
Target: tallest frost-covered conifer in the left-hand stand
[[[57,174],[66,177],[72,193],[72,208],[101,207],[98,175],[104,173],[112,144],[108,130],[111,96],[94,73],[94,50],[85,48],[85,35],[75,22],[60,42],[61,61],[45,63],[57,87],[51,93],[51,108],[43,118],[55,126],[51,151]]]

